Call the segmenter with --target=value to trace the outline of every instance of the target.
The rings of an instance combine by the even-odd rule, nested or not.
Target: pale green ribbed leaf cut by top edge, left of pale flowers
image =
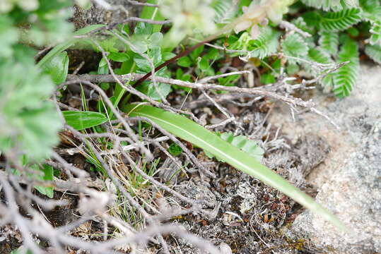
[[[238,13],[238,6],[234,0],[214,0],[211,7],[216,13],[214,22],[217,24],[232,23]]]

